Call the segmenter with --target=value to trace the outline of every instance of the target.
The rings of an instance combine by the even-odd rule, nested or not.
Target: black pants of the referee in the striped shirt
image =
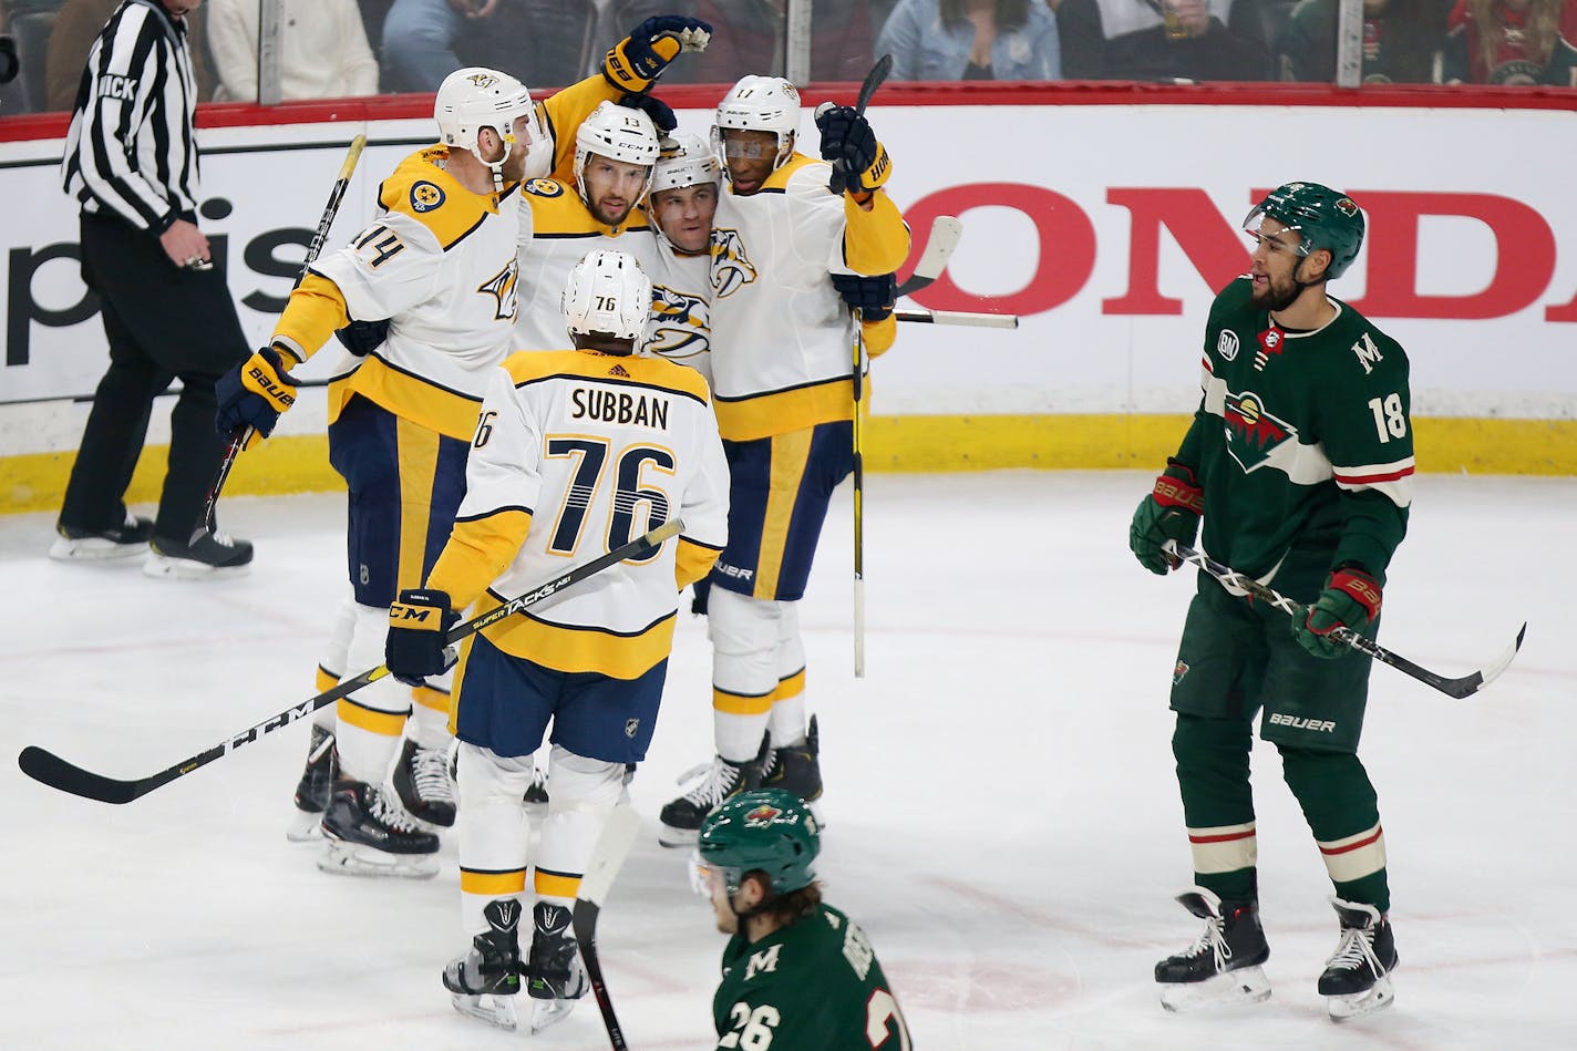
[[[153,399],[178,377],[181,393],[170,412],[169,470],[153,535],[185,544],[200,524],[203,497],[224,459],[213,387],[251,353],[224,271],[218,265],[183,270],[153,234],[114,216],[84,213],[82,279],[99,295],[109,371],[93,395],[60,522],[101,530],[125,521],[126,486]]]

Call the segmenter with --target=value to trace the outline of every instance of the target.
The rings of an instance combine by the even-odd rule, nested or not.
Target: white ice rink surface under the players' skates
[[[869,671],[852,677],[848,494],[803,604],[820,713],[828,900],[871,934],[919,1051],[1577,1048],[1577,480],[1422,475],[1381,642],[1462,675],[1530,622],[1492,688],[1452,701],[1375,668],[1402,967],[1347,1026],[1314,983],[1336,947],[1320,857],[1255,751],[1273,997],[1170,1016],[1151,966],[1199,922],[1167,686],[1191,581],[1128,552],[1140,473],[869,480]],[[453,844],[435,881],[358,881],[285,843],[308,731],[270,734],[126,806],[58,794],[24,745],[147,776],[312,693],[342,587],[341,500],[224,500],[249,576],[60,565],[50,514],[0,518],[0,1048],[607,1048],[588,997],[538,1037],[456,1015]],[[599,944],[629,1046],[710,1048],[722,936],[658,847],[673,778],[711,748],[705,625],[683,615],[645,830]],[[776,1051],[815,1051],[807,1048]]]

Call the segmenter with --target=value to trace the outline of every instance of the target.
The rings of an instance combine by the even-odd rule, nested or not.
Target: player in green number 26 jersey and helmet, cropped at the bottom
[[[695,843],[722,950],[718,1048],[908,1051],[904,1015],[866,933],[822,903],[822,833],[793,792],[740,792]]]

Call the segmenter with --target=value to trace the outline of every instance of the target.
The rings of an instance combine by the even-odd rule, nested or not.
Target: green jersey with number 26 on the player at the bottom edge
[[[711,1002],[718,1049],[908,1051],[908,1029],[866,933],[817,906],[759,942],[722,950]]]

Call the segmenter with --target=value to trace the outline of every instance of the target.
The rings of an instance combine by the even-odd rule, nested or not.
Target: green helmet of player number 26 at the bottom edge
[[[815,879],[822,828],[798,795],[782,789],[740,792],[706,816],[695,852],[722,876],[732,898],[746,873],[763,871],[770,893],[787,895]]]

